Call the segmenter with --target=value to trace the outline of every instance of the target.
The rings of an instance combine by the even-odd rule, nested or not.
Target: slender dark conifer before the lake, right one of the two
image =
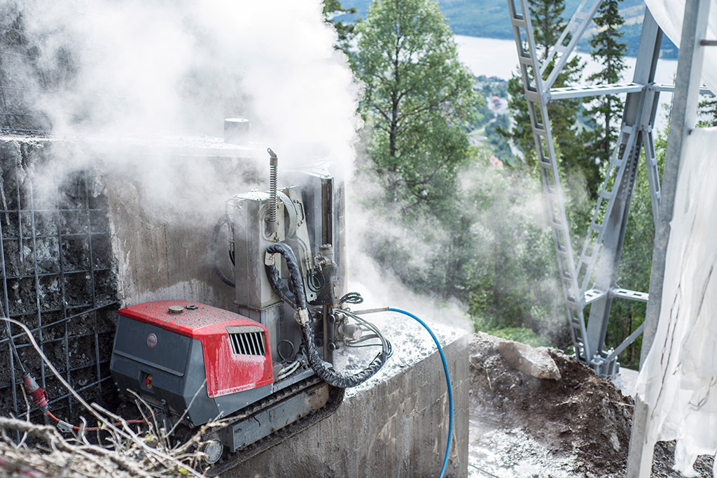
[[[625,24],[618,11],[622,0],[604,0],[600,4],[598,14],[594,18],[597,33],[590,39],[592,58],[602,64],[599,72],[588,77],[589,82],[599,84],[617,83],[622,79],[625,71],[625,54],[627,44],[619,41],[622,38],[620,27]],[[592,107],[588,113],[599,119],[592,137],[592,145],[596,162],[608,162],[617,141],[617,121],[623,109],[623,102],[615,94],[605,94],[592,100]]]

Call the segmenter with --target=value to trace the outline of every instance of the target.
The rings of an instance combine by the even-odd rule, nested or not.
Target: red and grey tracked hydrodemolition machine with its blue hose
[[[376,374],[392,353],[379,329],[348,308],[361,296],[341,295],[341,189],[333,177],[316,174],[279,189],[277,155],[268,152],[270,191],[235,195],[214,228],[214,271],[234,287],[238,313],[183,300],[118,311],[110,371],[120,396],[151,406],[152,419],[175,430],[178,440],[222,418],[226,426],[206,429],[201,440],[212,475],[333,414],[344,389]],[[445,356],[413,314],[365,313],[389,310],[418,321],[440,351],[450,405],[442,476],[452,434]],[[333,370],[337,348],[366,346],[379,351],[363,370]],[[26,386],[49,414],[44,390],[28,379]],[[62,431],[77,429],[52,418]]]

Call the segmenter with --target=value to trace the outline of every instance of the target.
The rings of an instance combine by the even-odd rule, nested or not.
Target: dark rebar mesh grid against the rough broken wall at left
[[[4,168],[0,297],[3,315],[31,329],[73,388],[103,402],[113,393],[109,361],[118,301],[107,206],[104,197],[91,194],[91,181],[87,172],[73,175],[60,185],[52,207],[38,208],[28,172]],[[27,410],[9,333],[27,371],[47,389],[52,409],[75,416],[74,399],[42,365],[24,333],[9,323],[0,325],[0,414],[19,416]]]

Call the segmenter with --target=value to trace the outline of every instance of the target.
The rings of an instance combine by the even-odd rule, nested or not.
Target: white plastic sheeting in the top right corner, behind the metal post
[[[685,16],[685,0],[645,0],[645,4],[665,35],[679,48],[682,21]],[[710,5],[707,38],[717,39],[717,0],[712,0]],[[717,47],[705,49],[702,81],[712,92],[717,92]]]

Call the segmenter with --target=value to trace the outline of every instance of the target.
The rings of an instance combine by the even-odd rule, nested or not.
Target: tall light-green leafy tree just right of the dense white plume
[[[437,212],[470,160],[473,75],[436,1],[376,0],[356,33],[371,165],[389,200]]]

